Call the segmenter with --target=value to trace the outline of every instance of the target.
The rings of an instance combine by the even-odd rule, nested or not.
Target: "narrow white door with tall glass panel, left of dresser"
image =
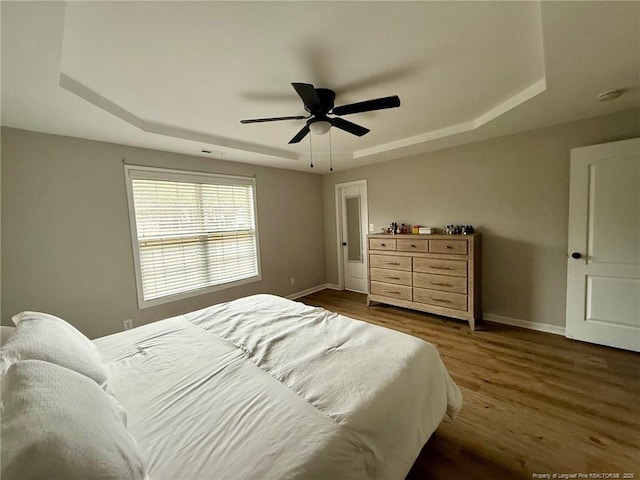
[[[336,200],[339,201],[340,277],[343,279],[346,290],[366,293],[368,290],[365,248],[368,220],[366,181],[336,185]]]

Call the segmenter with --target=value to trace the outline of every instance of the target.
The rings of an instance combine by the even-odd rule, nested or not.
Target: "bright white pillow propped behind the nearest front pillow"
[[[46,313],[22,312],[2,346],[0,373],[17,360],[44,360],[70,368],[105,386],[106,370],[95,344],[73,325]]]

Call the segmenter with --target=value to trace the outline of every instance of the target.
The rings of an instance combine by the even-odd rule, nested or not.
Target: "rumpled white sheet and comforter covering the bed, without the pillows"
[[[462,403],[432,345],[272,295],[94,342],[154,480],[403,479]]]

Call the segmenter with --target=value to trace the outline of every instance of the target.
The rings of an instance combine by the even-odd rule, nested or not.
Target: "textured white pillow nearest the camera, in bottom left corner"
[[[118,408],[95,382],[23,360],[2,379],[3,480],[143,480],[144,461]]]

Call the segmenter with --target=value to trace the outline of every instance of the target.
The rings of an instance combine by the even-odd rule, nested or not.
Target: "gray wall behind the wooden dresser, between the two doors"
[[[635,110],[326,175],[327,282],[338,283],[335,184],[366,179],[376,233],[391,221],[477,227],[487,319],[564,327],[570,149],[639,135]]]

